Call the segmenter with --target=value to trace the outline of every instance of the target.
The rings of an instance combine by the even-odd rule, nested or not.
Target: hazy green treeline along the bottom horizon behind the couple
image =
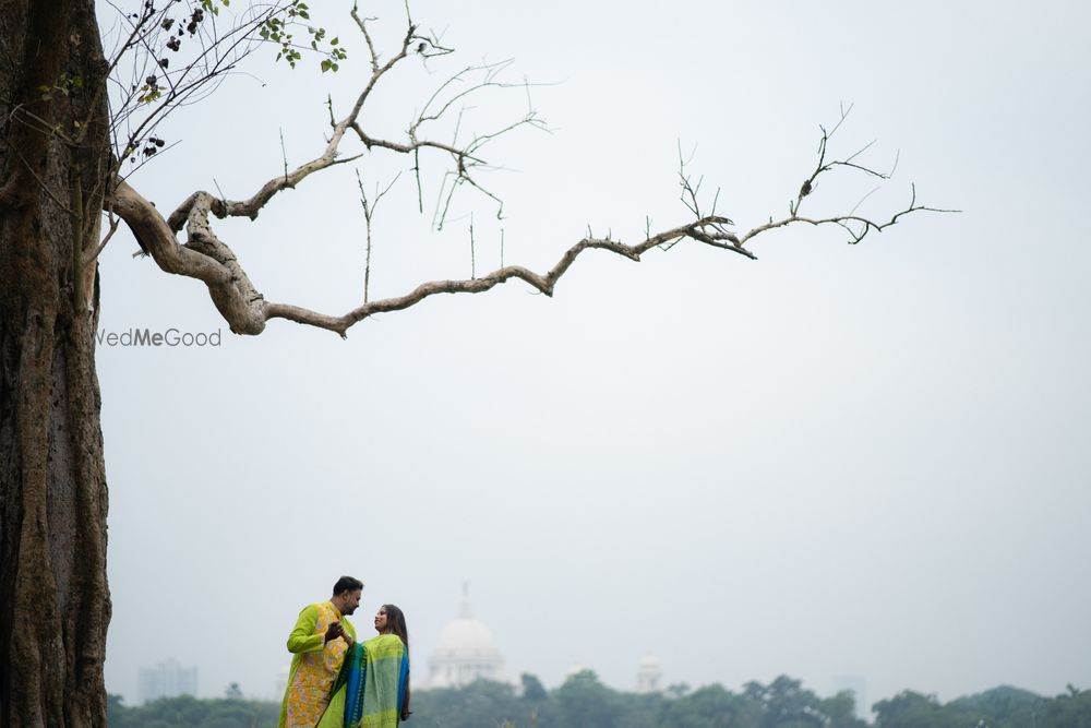
[[[139,707],[110,696],[111,728],[274,728],[279,704],[242,699],[164,699]],[[873,706],[874,721],[855,717],[851,693],[819,697],[780,677],[740,692],[714,684],[673,685],[635,694],[603,685],[591,671],[555,690],[523,676],[515,688],[478,681],[465,688],[413,692],[407,728],[1091,728],[1091,690],[1043,697],[1017,688],[940,703],[902,692]]]

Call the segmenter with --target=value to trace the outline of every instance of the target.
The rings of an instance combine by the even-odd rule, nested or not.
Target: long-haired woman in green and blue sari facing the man
[[[375,614],[375,631],[377,637],[351,644],[345,653],[320,728],[395,728],[409,719],[405,613],[394,605],[383,605]]]

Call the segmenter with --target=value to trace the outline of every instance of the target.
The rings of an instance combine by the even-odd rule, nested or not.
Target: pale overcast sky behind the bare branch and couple
[[[315,3],[317,4],[317,3]],[[322,3],[324,8],[327,3]],[[333,9],[335,3],[328,3]],[[344,10],[347,13],[348,5]],[[365,5],[384,40],[397,2]],[[201,693],[273,697],[298,610],[341,573],[407,613],[415,671],[471,582],[513,677],[574,663],[630,689],[779,673],[820,693],[867,681],[948,700],[1002,683],[1091,685],[1091,51],[1086,3],[443,3],[413,13],[460,55],[394,75],[364,116],[394,136],[444,71],[514,58],[552,134],[492,151],[505,219],[464,195],[443,235],[403,175],[376,219],[372,296],[477,268],[552,265],[590,225],[631,242],[686,219],[676,144],[740,229],[782,215],[818,124],[854,110],[847,153],[900,162],[850,247],[836,229],[755,241],[758,261],[683,243],[640,264],[587,254],[550,300],[518,283],[433,299],[348,341],[286,322],[231,335],[194,281],[104,253],[105,331],[224,332],[216,349],[99,348],[113,621],[107,687],[175,657]],[[252,194],[323,145],[367,68],[347,14],[341,72],[252,59],[163,128],[181,144],[135,186],[172,210]],[[386,46],[387,48],[389,45]],[[419,68],[419,67],[418,67]],[[262,85],[262,83],[266,85]],[[525,104],[484,99],[485,130]],[[351,147],[348,147],[351,148]],[[422,157],[425,204],[443,159]],[[409,160],[365,156],[369,189]],[[215,180],[215,181],[214,181]],[[812,211],[870,182],[822,184]],[[431,195],[431,196],[428,196]],[[255,223],[216,228],[266,298],[359,302],[352,166]]]

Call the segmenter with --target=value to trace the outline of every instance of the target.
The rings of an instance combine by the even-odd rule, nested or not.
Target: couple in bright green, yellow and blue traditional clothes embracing
[[[409,719],[409,633],[394,605],[375,614],[377,637],[356,641],[346,619],[363,582],[341,576],[333,596],[304,607],[288,635],[292,654],[279,728],[395,728]]]

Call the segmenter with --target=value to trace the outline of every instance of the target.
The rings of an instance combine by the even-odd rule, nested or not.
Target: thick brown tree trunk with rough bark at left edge
[[[0,0],[2,726],[106,725],[105,73],[92,0]]]

